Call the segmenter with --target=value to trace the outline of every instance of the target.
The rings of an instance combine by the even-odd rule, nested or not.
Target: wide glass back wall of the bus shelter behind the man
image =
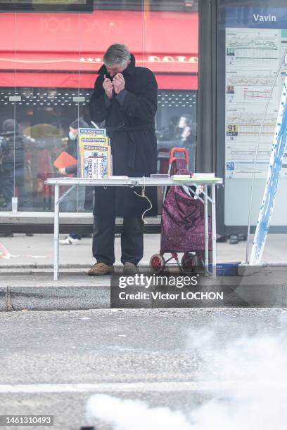
[[[21,213],[53,211],[53,190],[44,182],[77,174],[58,159],[67,153],[77,163],[70,126],[92,125],[89,97],[114,43],[126,44],[136,65],[155,73],[158,171],[167,171],[173,146],[189,150],[193,170],[197,1],[94,0],[91,13],[0,12],[0,211],[11,211],[12,197]],[[92,190],[75,190],[60,209],[90,212],[93,204]]]

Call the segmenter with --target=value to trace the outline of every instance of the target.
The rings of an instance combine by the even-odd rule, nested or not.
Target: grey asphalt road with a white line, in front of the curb
[[[53,429],[62,430],[85,424],[93,393],[190,412],[220,388],[214,358],[229,344],[287,332],[284,308],[22,311],[0,318],[0,415],[51,414]]]

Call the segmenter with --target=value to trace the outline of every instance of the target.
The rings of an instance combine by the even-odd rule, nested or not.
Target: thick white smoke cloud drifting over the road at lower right
[[[212,393],[212,400],[184,415],[169,408],[151,408],[139,400],[94,395],[87,404],[89,419],[100,419],[113,430],[286,429],[284,332],[238,337],[222,346],[209,327],[190,334],[188,344],[205,361],[205,381],[224,386]]]

